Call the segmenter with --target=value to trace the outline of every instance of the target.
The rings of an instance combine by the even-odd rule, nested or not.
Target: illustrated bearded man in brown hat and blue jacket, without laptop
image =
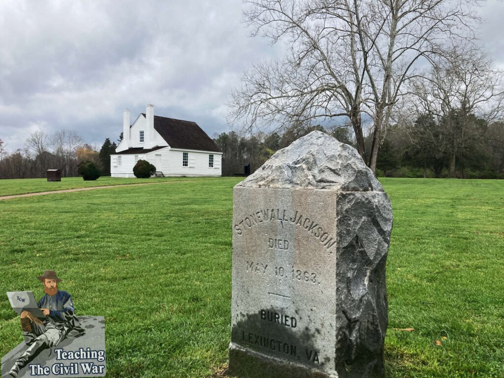
[[[85,331],[75,316],[74,304],[70,294],[58,290],[56,272],[46,270],[37,277],[44,284],[44,296],[38,307],[44,319],[35,317],[30,311],[21,312],[21,329],[28,349],[17,359],[9,374],[17,377],[19,371],[32,361],[42,350],[58,345],[66,338],[84,335]]]

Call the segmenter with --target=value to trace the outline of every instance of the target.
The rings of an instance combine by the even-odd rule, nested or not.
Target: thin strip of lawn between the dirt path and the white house
[[[104,176],[95,181],[84,181],[82,177],[63,177],[61,181],[47,182],[47,178],[15,178],[0,180],[0,197],[26,193],[52,192],[90,186],[139,184],[144,182],[215,180],[219,177],[151,177],[119,178]]]

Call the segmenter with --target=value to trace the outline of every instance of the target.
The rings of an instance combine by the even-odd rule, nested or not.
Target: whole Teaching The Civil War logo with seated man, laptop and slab
[[[93,322],[98,321],[99,324],[103,325],[103,327],[100,327],[103,331],[94,331],[93,340],[84,340],[86,338],[82,338],[83,340],[79,343],[79,349],[77,350],[71,350],[73,348],[54,348],[55,355],[53,355],[53,359],[55,358],[56,361],[53,361],[50,366],[38,363],[29,365],[29,369],[25,370],[29,370],[29,376],[105,375],[104,319],[101,317],[81,317],[80,321],[76,317],[71,295],[58,289],[58,283],[62,280],[56,275],[56,272],[46,270],[37,279],[43,283],[45,293],[38,302],[35,302],[35,297],[30,291],[7,293],[11,305],[20,314],[21,329],[27,346],[20,355],[18,353],[18,357],[9,370],[7,377],[16,378],[20,373],[28,375],[25,374],[23,369],[36,359],[43,350],[56,347],[64,340],[72,340],[85,335],[86,330],[81,325],[81,321],[87,324],[86,329],[95,328]],[[101,339],[98,340],[98,344],[96,344],[97,337]],[[70,347],[72,342],[66,342],[65,344]],[[89,345],[87,348],[86,344]],[[96,345],[103,346],[101,350],[97,350]],[[19,349],[19,346],[17,349]],[[6,367],[9,368],[9,366],[4,366],[6,362],[13,360],[13,352],[14,350],[5,356],[2,361],[3,373]],[[40,358],[37,360],[40,360]],[[64,362],[61,362],[61,360]],[[72,362],[73,360],[79,360],[79,362]],[[94,362],[81,362],[89,360],[99,361],[102,364],[95,365]],[[46,359],[39,362],[48,361]]]

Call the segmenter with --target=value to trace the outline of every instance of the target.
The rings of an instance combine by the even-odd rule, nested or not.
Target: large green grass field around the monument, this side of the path
[[[40,297],[35,277],[54,269],[78,314],[105,317],[107,376],[211,376],[230,340],[238,181],[1,201],[0,355],[22,341],[2,293]],[[504,377],[504,181],[382,182],[395,218],[387,376]]]

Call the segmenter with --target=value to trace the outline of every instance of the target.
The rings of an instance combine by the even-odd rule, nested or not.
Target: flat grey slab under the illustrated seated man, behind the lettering
[[[86,333],[81,336],[77,337],[74,339],[65,339],[61,341],[58,345],[55,347],[52,347],[50,349],[44,349],[40,352],[40,354],[35,357],[29,365],[35,365],[39,364],[43,367],[52,367],[53,365],[58,365],[62,363],[65,366],[70,366],[72,363],[76,363],[78,366],[78,374],[65,374],[62,373],[61,369],[59,366],[56,368],[55,372],[58,374],[54,374],[53,372],[50,372],[48,375],[43,375],[43,374],[38,374],[38,375],[31,375],[30,367],[29,365],[24,367],[19,371],[18,378],[29,378],[29,377],[34,377],[34,376],[39,376],[39,377],[44,377],[44,378],[62,378],[62,377],[80,377],[80,376],[105,376],[106,373],[106,368],[105,368],[105,363],[106,360],[103,361],[97,361],[96,359],[67,359],[67,360],[57,360],[56,357],[56,352],[54,351],[55,349],[63,349],[64,351],[79,351],[80,348],[87,350],[89,347],[91,350],[105,350],[105,318],[103,317],[93,317],[93,316],[82,316],[82,317],[77,317],[79,319],[79,322],[81,323],[81,326],[86,330]],[[21,332],[21,325],[20,325],[20,330]],[[11,370],[12,366],[18,359],[18,357],[27,349],[27,346],[25,342],[22,342],[18,344],[17,347],[12,349],[9,353],[7,353],[3,358],[2,358],[2,377],[7,377],[7,378],[12,378],[11,375],[9,374],[9,371]],[[106,354],[105,354],[106,357]],[[82,366],[80,365],[81,363],[93,363],[94,365],[97,366],[104,366],[103,367],[103,373],[102,374],[86,374],[83,371]]]

